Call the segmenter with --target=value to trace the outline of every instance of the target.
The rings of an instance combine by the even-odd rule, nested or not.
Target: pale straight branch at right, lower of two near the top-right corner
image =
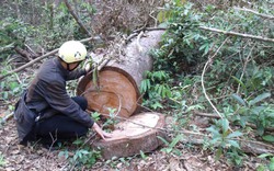
[[[206,26],[199,26],[199,29],[205,30],[205,31],[210,31],[210,32],[222,33],[225,35],[233,35],[233,36],[240,36],[240,37],[246,37],[246,38],[252,38],[252,39],[274,43],[274,39],[272,39],[272,38],[251,35],[251,34],[242,34],[242,33],[238,33],[238,32],[222,31],[222,30],[218,30],[218,29],[214,29],[214,27],[206,27]]]

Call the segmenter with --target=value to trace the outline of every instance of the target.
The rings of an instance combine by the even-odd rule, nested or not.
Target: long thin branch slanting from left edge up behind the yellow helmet
[[[93,38],[93,37],[89,37],[89,38],[81,39],[80,42],[81,42],[81,43],[84,43],[84,42],[89,42],[89,41],[92,41],[92,39],[94,39],[94,38]],[[32,61],[30,61],[30,62],[27,62],[27,64],[25,64],[25,65],[23,65],[23,66],[16,68],[16,69],[14,69],[14,70],[11,70],[11,71],[7,72],[7,73],[3,75],[3,76],[0,76],[0,80],[3,79],[3,78],[5,78],[5,77],[8,77],[8,76],[10,76],[10,75],[13,75],[13,73],[19,72],[19,71],[21,71],[21,70],[23,70],[23,69],[25,69],[25,68],[27,68],[27,67],[30,67],[30,66],[32,66],[32,65],[34,65],[35,62],[37,62],[37,61],[39,61],[39,60],[42,60],[42,59],[44,59],[44,58],[46,58],[46,57],[48,57],[48,56],[50,56],[50,55],[56,54],[56,53],[58,52],[58,49],[59,49],[59,48],[54,49],[54,50],[52,50],[52,52],[49,52],[49,53],[47,53],[47,54],[45,54],[45,55],[43,55],[43,56],[41,56],[41,57],[37,57],[37,58],[33,59]]]

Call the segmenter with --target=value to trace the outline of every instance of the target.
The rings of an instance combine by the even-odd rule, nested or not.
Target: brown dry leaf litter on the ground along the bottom
[[[4,113],[4,109],[0,109]],[[39,144],[27,147],[18,144],[16,127],[14,121],[9,119],[0,128],[0,170],[15,171],[61,171],[61,170],[94,170],[94,171],[250,171],[256,170],[263,160],[247,156],[242,166],[233,167],[224,158],[215,160],[213,151],[202,150],[202,147],[180,144],[176,149],[182,153],[180,157],[168,155],[160,149],[146,153],[145,157],[137,155],[130,158],[116,160],[99,159],[92,168],[71,166],[71,163],[59,156],[66,149],[73,153],[72,145],[65,145],[60,149],[49,150]]]

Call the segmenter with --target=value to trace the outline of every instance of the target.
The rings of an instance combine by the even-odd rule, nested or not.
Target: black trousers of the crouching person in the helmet
[[[85,111],[88,102],[83,96],[75,96],[72,100]],[[35,135],[35,140],[52,145],[84,136],[88,130],[87,126],[60,113],[37,122],[34,126],[33,135]]]

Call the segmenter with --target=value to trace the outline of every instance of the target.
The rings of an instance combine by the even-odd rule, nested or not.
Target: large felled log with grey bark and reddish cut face
[[[109,109],[116,109],[123,117],[138,112],[139,87],[145,71],[152,69],[149,53],[157,47],[162,34],[163,31],[151,31],[146,33],[146,37],[128,44],[118,61],[111,61],[100,70],[99,89],[92,82],[92,73],[79,81],[77,94],[85,96],[88,110],[109,113]]]

